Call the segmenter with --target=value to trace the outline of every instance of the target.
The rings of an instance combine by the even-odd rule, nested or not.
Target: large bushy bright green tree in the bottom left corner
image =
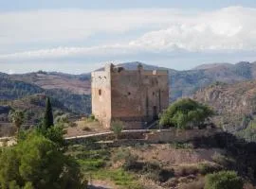
[[[32,131],[0,153],[0,188],[85,188],[79,164],[58,146]]]

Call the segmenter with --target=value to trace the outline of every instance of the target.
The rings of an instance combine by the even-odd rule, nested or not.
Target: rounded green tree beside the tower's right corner
[[[211,115],[213,115],[213,111],[208,106],[190,98],[184,98],[174,102],[162,113],[159,124],[179,129],[187,129],[192,126],[200,127]]]

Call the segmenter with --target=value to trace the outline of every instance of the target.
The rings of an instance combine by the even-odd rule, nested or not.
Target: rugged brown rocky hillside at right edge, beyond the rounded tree
[[[254,119],[256,114],[256,80],[235,84],[216,82],[199,90],[193,98],[214,108],[217,125],[243,129],[245,117]]]

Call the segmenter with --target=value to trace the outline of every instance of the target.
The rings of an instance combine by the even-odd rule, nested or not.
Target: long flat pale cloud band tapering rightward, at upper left
[[[172,16],[171,16],[172,15]],[[188,15],[175,9],[59,9],[0,13],[0,44],[81,40],[96,33],[158,28]]]

